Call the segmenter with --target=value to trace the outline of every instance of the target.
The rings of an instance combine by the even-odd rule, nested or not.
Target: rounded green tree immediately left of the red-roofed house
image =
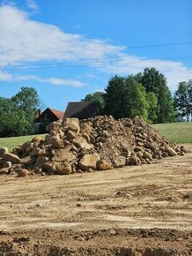
[[[25,113],[26,134],[33,133],[35,113],[40,106],[37,91],[33,87],[21,87],[21,90],[11,98],[11,101]]]

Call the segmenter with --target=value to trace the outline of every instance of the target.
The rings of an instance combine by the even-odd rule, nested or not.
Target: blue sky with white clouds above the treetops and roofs
[[[0,1],[0,96],[34,87],[41,109],[155,67],[171,92],[192,79],[191,0]]]

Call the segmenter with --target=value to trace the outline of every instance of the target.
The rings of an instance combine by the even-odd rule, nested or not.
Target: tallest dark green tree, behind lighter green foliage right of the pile
[[[153,119],[154,123],[173,122],[175,117],[174,99],[169,88],[166,86],[165,76],[155,68],[145,68],[141,79],[146,93],[154,93],[158,99],[157,118]]]

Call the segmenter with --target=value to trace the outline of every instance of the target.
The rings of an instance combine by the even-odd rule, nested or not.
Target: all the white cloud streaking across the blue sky
[[[35,9],[35,2],[27,1]],[[32,7],[33,6],[33,7]],[[166,75],[172,90],[181,80],[192,77],[192,69],[184,64],[161,59],[144,59],[131,56],[125,47],[114,46],[101,40],[88,40],[81,34],[69,34],[59,27],[34,21],[25,11],[11,5],[0,6],[0,70],[1,67],[15,69],[27,65],[78,64],[86,65],[108,74],[128,75],[142,72],[146,66],[156,67]],[[0,79],[9,80],[11,75],[0,73]],[[18,79],[18,78],[17,78]],[[58,79],[20,76],[54,85],[81,87],[84,84],[76,79]]]

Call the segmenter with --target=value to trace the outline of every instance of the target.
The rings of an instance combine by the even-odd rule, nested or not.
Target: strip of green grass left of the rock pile
[[[36,136],[41,136],[41,138],[44,139],[46,134],[11,137],[11,138],[0,138],[0,147],[8,147],[9,150],[11,151],[12,148],[18,147],[18,145],[22,145],[26,141],[30,141]]]

